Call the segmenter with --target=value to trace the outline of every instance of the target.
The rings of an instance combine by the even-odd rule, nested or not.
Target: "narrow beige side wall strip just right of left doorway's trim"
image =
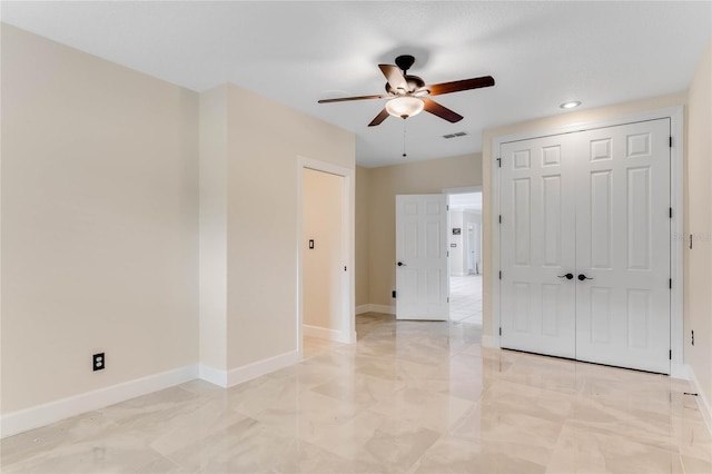
[[[368,197],[370,194],[370,169],[356,167],[356,306],[368,300]]]

